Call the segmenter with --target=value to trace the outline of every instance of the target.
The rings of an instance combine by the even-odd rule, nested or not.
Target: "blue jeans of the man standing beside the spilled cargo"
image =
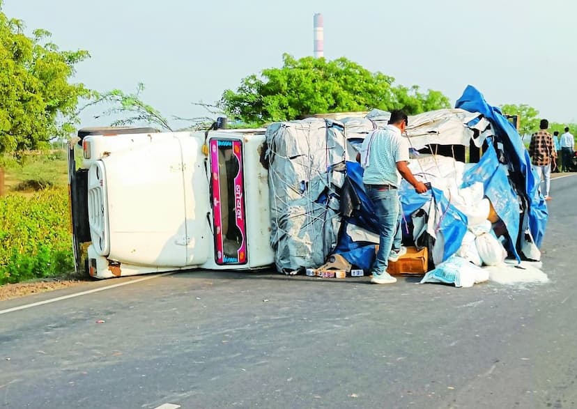
[[[379,245],[375,262],[371,267],[373,275],[381,275],[387,271],[391,250],[401,249],[401,203],[397,189],[384,190],[374,185],[364,185],[367,194],[373,202],[378,219]]]

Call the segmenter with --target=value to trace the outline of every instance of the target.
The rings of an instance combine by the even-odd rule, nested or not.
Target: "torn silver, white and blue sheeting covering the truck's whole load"
[[[277,270],[315,268],[333,252],[364,270],[370,267],[378,224],[364,191],[362,168],[354,160],[364,137],[383,128],[389,117],[388,112],[374,110],[366,118],[344,118],[341,122],[309,118],[268,127],[265,157]],[[514,128],[475,88],[466,89],[456,109],[410,116],[407,135],[416,149],[469,146],[470,141],[480,147],[491,141],[479,164],[465,165],[431,155],[409,165],[413,173],[421,173],[422,180],[431,181],[433,190],[417,194],[403,180],[399,187],[403,234],[417,240],[424,233],[430,236],[427,244],[434,243],[435,263],[456,254],[468,229],[484,221],[487,203],[478,196],[476,185],[482,185],[481,194],[491,200],[503,220],[511,238],[511,254],[519,259],[519,232],[525,224],[540,243],[547,214],[528,154]],[[495,138],[503,145],[499,154],[504,153],[509,168],[493,149]],[[527,217],[520,219],[523,197],[530,206]],[[413,225],[415,231],[410,231]]]

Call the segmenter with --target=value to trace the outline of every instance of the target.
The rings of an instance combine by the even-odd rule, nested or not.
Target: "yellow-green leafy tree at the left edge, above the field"
[[[72,84],[83,50],[61,51],[43,29],[24,34],[24,23],[2,12],[0,0],[0,153],[43,147],[73,130],[83,84]]]

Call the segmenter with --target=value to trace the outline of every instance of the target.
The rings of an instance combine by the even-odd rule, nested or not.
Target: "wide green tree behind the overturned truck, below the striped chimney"
[[[245,77],[236,91],[224,91],[219,106],[246,123],[373,108],[418,114],[450,106],[439,91],[422,93],[418,86],[396,86],[393,77],[370,72],[344,57],[329,61],[284,54],[283,62],[282,68]]]

